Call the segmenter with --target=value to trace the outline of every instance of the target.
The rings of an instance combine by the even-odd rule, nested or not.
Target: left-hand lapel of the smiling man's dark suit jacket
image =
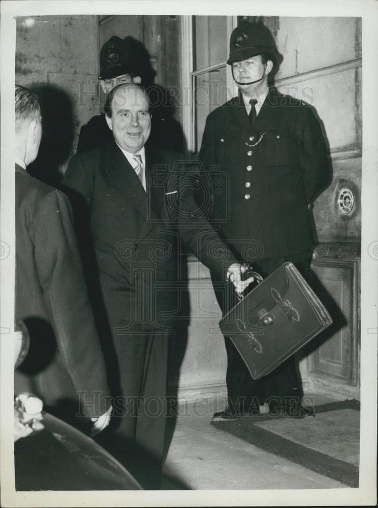
[[[134,168],[113,141],[104,153],[104,168],[127,202],[147,217],[147,196]]]

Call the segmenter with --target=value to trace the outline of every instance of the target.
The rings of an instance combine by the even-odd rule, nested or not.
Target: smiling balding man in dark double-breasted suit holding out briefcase
[[[114,140],[105,149],[75,155],[63,183],[71,189],[78,221],[86,213],[80,200],[89,211],[107,320],[103,330],[105,335],[108,325],[108,348],[114,348],[109,367],[119,418],[109,441],[123,439],[131,463],[117,456],[142,486],[159,488],[167,346],[179,308],[181,245],[220,279],[227,274],[238,291],[249,281],[241,280],[243,267],[228,249],[228,263],[217,260],[219,238],[198,213],[187,173],[177,170],[180,155],[145,146],[151,117],[143,88],[132,83],[113,88],[105,112]],[[113,453],[122,451],[114,446],[118,450],[110,443]]]

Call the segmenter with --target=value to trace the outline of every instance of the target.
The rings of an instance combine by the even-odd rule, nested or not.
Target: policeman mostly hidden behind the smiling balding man
[[[180,124],[172,116],[172,101],[167,90],[153,85],[153,75],[148,53],[139,41],[131,37],[122,40],[113,36],[101,48],[99,79],[105,95],[121,83],[141,83],[147,91],[151,105],[150,143],[182,153],[184,138]],[[105,113],[101,113],[82,126],[77,152],[105,146],[112,139]]]

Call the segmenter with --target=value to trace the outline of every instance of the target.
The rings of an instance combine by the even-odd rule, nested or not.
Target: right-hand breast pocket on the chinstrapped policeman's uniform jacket
[[[261,140],[260,155],[266,168],[286,168],[295,165],[297,147],[288,129],[265,131]]]

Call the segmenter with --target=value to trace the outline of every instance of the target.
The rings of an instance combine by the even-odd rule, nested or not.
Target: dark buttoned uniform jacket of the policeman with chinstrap
[[[328,171],[309,106],[272,88],[250,126],[242,98],[235,97],[208,116],[200,160],[227,175],[223,192],[214,193],[212,217],[225,216],[229,195],[229,217],[219,226],[239,254],[245,239],[256,242],[260,256],[253,261],[312,249],[308,204],[324,188]]]

